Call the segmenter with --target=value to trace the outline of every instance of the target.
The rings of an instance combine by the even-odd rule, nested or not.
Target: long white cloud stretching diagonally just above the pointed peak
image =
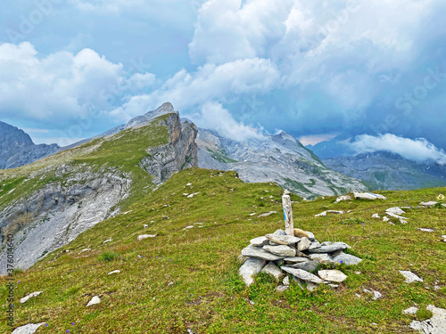
[[[254,58],[206,64],[193,73],[186,69],[178,71],[150,94],[132,96],[120,108],[112,110],[111,116],[128,120],[167,101],[178,110],[185,110],[215,100],[225,102],[234,94],[261,94],[279,85],[280,74],[269,60]]]

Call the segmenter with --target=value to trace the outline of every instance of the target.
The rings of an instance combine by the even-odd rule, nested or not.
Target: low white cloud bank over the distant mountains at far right
[[[348,145],[351,145],[351,148],[357,154],[388,151],[417,162],[434,160],[441,165],[446,164],[446,153],[424,138],[413,140],[395,134],[381,134],[379,136],[361,134],[354,139],[353,143],[348,143]]]

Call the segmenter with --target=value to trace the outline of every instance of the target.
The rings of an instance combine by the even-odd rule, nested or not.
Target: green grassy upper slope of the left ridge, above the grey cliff
[[[130,196],[123,203],[123,208],[128,207],[140,194],[153,189],[142,191],[140,188],[141,184],[147,186],[152,178],[138,164],[148,155],[147,148],[169,143],[168,129],[161,125],[168,117],[169,114],[161,116],[147,126],[95,139],[23,167],[0,170],[0,208],[13,200],[26,198],[48,183],[70,185],[66,180],[75,173],[115,170],[130,175],[133,181],[132,193],[136,198]],[[62,165],[67,166],[67,172],[57,175],[57,168]]]

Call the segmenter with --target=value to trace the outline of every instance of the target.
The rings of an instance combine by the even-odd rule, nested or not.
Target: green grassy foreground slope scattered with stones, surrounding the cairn
[[[198,191],[191,199],[183,195]],[[416,303],[446,307],[446,243],[440,238],[446,234],[446,209],[417,208],[441,191],[446,189],[384,191],[389,200],[336,205],[335,198],[295,202],[295,227],[314,232],[320,241],[345,241],[364,261],[341,267],[349,277],[340,289],[321,286],[310,293],[292,285],[279,294],[276,283],[263,275],[245,288],[236,257],[250,239],[284,227],[282,189],[273,183],[243,183],[234,172],[187,169],[136,201],[126,214],[95,225],[18,273],[16,326],[47,323],[37,333],[409,332],[407,325],[416,316],[401,310]],[[406,215],[409,224],[371,218],[393,206],[414,207]],[[352,212],[314,217],[326,209]],[[277,214],[257,217],[272,210]],[[136,241],[140,234],[154,233],[154,239]],[[82,252],[85,248],[91,250]],[[121,273],[107,274],[114,270]],[[411,270],[425,281],[404,283],[399,270]],[[442,289],[434,290],[436,280]],[[1,283],[1,312],[6,314],[7,290]],[[362,287],[383,297],[372,300]],[[18,303],[39,290],[44,291],[39,297]],[[95,295],[102,297],[101,304],[86,307]],[[0,322],[0,332],[10,331]]]

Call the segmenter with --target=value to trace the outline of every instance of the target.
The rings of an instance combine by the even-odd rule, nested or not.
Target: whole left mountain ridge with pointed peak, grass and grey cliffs
[[[180,123],[173,107],[161,111],[132,119],[119,132],[0,173],[2,240],[14,235],[16,267],[29,268],[170,175],[196,167],[196,127]],[[2,250],[0,273],[5,259]]]

